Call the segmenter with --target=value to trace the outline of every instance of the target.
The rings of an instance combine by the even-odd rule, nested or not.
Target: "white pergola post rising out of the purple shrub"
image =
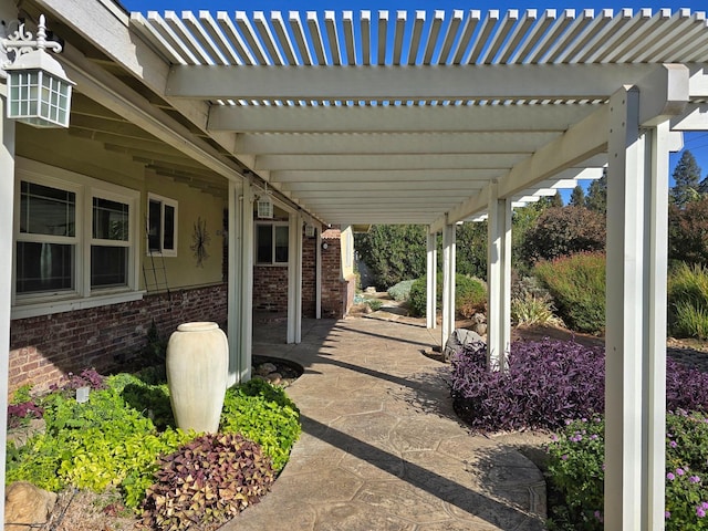
[[[487,364],[504,371],[511,344],[511,201],[489,186]]]

